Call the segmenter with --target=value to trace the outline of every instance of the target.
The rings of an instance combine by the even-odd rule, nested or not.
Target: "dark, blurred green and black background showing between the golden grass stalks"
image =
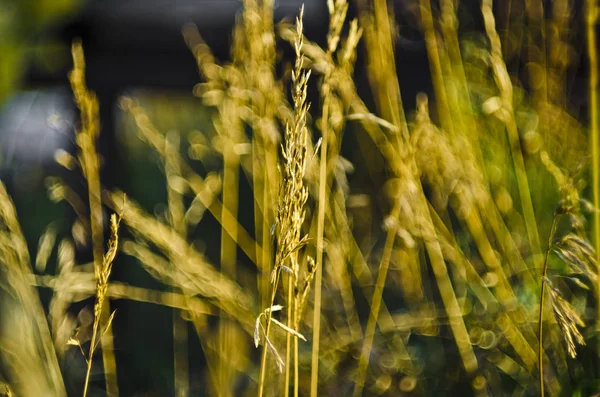
[[[288,18],[292,22],[301,3],[295,0],[276,1],[274,19],[280,21]],[[329,27],[326,2],[307,0],[304,3],[307,39],[325,45]],[[547,171],[547,164],[538,160],[541,150],[549,153],[565,173],[575,169],[577,164],[588,157],[586,126],[590,110],[590,70],[587,66],[587,42],[583,23],[585,7],[579,1],[540,2],[542,15],[538,16],[540,19],[537,21],[545,21],[548,28],[546,36],[541,38],[545,44],[536,47],[539,37],[536,36],[537,22],[533,18],[535,10],[534,7],[528,8],[525,3],[515,0],[497,2],[494,12],[496,27],[503,43],[505,63],[515,84],[515,117],[521,139],[518,150],[522,151],[525,158],[529,186],[534,192],[531,196],[535,220],[544,241],[550,232],[552,214],[562,196],[556,186],[555,175]],[[370,2],[351,2],[347,19],[358,16],[358,10],[365,4],[368,8]],[[413,0],[395,0],[389,2],[389,5],[390,17],[397,24],[394,28],[394,72],[402,90],[404,111],[411,122],[415,121],[417,94],[425,93],[431,104],[431,119],[439,123],[443,114],[440,115],[437,110],[439,108],[434,105],[439,101],[436,97],[439,91],[436,91],[432,79],[431,53],[428,54],[425,28],[421,20],[422,5]],[[190,23],[195,24],[218,61],[227,63],[231,60],[231,32],[241,19],[241,7],[241,2],[237,0],[0,0],[0,178],[15,202],[30,252],[36,252],[39,238],[48,227],[59,236],[57,239],[74,233],[73,222],[76,216],[68,203],[53,199],[53,178],[61,178],[74,192],[85,197],[85,180],[56,164],[57,152],[76,151],[74,137],[78,125],[78,110],[68,81],[68,72],[73,66],[72,42],[81,41],[83,44],[87,83],[97,94],[100,103],[102,132],[98,148],[102,158],[103,186],[125,191],[156,219],[168,223],[165,215],[168,212],[168,197],[163,164],[156,153],[139,138],[139,126],[123,109],[122,98],[131,98],[139,104],[150,116],[156,130],[165,136],[180,137],[181,151],[191,160],[192,167],[199,175],[218,175],[223,168],[223,159],[222,153],[214,149],[218,146],[218,132],[213,123],[217,113],[214,107],[206,104],[206,98],[194,95],[199,90],[197,84],[203,82],[204,77],[199,73],[196,59],[186,45],[182,29]],[[440,12],[439,4],[433,4],[433,8],[435,12]],[[470,0],[460,1],[456,2],[455,10],[459,27],[457,36],[461,42],[464,70],[469,84],[472,84],[469,95],[476,104],[473,105],[473,109],[476,109],[473,112],[476,113],[478,128],[481,131],[497,132],[502,128],[494,122],[484,120],[494,113],[493,109],[490,110],[494,102],[487,101],[494,94],[494,90],[490,88],[490,82],[494,79],[487,68],[489,61],[482,55],[488,51],[488,47],[484,38],[480,4]],[[347,31],[348,24],[345,26]],[[370,86],[377,79],[369,75],[369,62],[372,61],[368,59],[364,45],[361,44],[357,51],[356,72],[353,74],[356,90],[369,109],[381,110],[378,92]],[[445,45],[443,41],[440,44],[441,47]],[[275,74],[281,77],[284,84],[289,85],[289,70],[286,66],[289,67],[290,62],[293,62],[293,50],[284,40],[278,40],[278,48]],[[556,53],[553,52],[555,48],[559,48]],[[552,87],[548,91],[557,93],[556,96],[549,101],[546,98],[550,103],[554,98],[560,97],[552,103],[556,108],[544,107],[546,102],[543,106],[539,105],[535,98],[539,88],[537,77],[541,75],[540,66],[536,62],[540,57],[543,58],[540,53],[547,55],[548,65],[562,68],[561,73],[557,73],[560,78],[556,79],[559,87],[556,91],[552,91]],[[548,66],[548,70],[553,69]],[[452,72],[443,70],[443,75],[452,76]],[[549,86],[552,86],[553,80],[548,81]],[[322,108],[316,84],[309,87],[308,97],[313,104],[311,117],[317,120]],[[546,117],[547,115],[550,116]],[[542,130],[546,131],[546,135],[540,132]],[[361,131],[356,123],[347,123],[340,150],[345,164],[351,169],[347,183],[348,189],[355,194],[353,199],[359,202],[366,197],[372,203],[368,213],[362,210],[352,212],[352,209],[349,212],[358,225],[357,230],[366,228],[367,224],[369,229],[372,226],[369,233],[359,230],[358,234],[363,236],[363,240],[358,243],[362,244],[361,248],[367,247],[369,254],[365,256],[369,258],[369,266],[376,274],[379,253],[383,250],[385,241],[385,230],[381,225],[385,223],[390,211],[382,198],[382,192],[386,186],[389,188],[386,183],[391,172],[387,169],[385,160],[379,154],[374,154],[377,152],[376,146],[366,140]],[[518,209],[521,205],[518,198],[518,176],[511,171],[511,151],[507,149],[510,144],[504,138],[496,139],[486,137],[482,132],[478,133],[481,135],[485,171],[489,178],[488,185],[492,186],[495,205],[511,229],[517,251],[527,265],[534,269],[531,252],[526,247],[526,222]],[[453,139],[455,137],[448,138],[449,147],[454,145]],[[440,204],[436,201],[440,200],[437,195],[446,194],[444,190],[447,186],[442,186],[447,182],[445,173],[452,173],[453,170],[449,168],[451,162],[436,160],[433,154],[428,157],[428,150],[437,155],[439,148],[443,147],[438,143],[434,146],[437,151],[423,143],[420,150],[423,153],[421,161],[425,164],[424,167],[429,162],[433,164],[439,161],[438,168],[435,169],[440,176],[439,180],[422,176],[425,194],[432,205],[436,206]],[[443,154],[443,150],[441,152]],[[200,159],[201,161],[194,162]],[[369,163],[369,167],[362,167],[361,164],[364,163]],[[585,168],[577,182],[577,188],[582,197],[591,199],[590,177]],[[238,191],[239,223],[247,230],[253,230],[255,214],[250,181],[241,178]],[[441,200],[444,201],[443,198]],[[357,207],[360,208],[359,205]],[[105,210],[108,214],[108,209]],[[494,278],[495,273],[483,270],[485,258],[477,254],[477,241],[473,241],[468,228],[461,224],[456,212],[458,211],[440,211],[440,222],[450,226],[450,233],[455,234],[457,244],[475,263],[485,287],[494,290],[498,283]],[[455,229],[452,230],[451,227]],[[585,228],[589,229],[589,224]],[[201,222],[188,231],[188,241],[212,263],[219,263],[220,233],[219,222],[207,213]],[[493,234],[489,230],[487,233]],[[125,230],[121,237],[128,239],[135,236]],[[491,241],[492,244],[501,245],[493,238]],[[547,248],[546,246],[544,242],[543,248]],[[496,248],[495,245],[494,247]],[[249,280],[255,277],[256,269],[252,261],[241,249],[237,248],[237,251],[238,279]],[[58,252],[53,251],[48,266],[36,269],[36,273],[54,274],[57,269],[53,263],[56,263],[57,255]],[[79,263],[90,261],[90,247],[78,244],[76,255]],[[422,262],[428,264],[425,254],[421,255]],[[398,256],[394,261],[401,262],[402,257]],[[555,268],[562,266],[554,261]],[[502,262],[502,266],[505,265]],[[464,292],[463,296],[467,303],[461,301],[461,304],[464,303],[469,308],[469,314],[472,310],[473,318],[468,320],[472,321],[469,323],[472,331],[470,335],[479,341],[475,348],[478,359],[486,362],[491,369],[484,368],[476,374],[465,374],[458,365],[460,354],[449,331],[449,320],[439,314],[442,310],[439,305],[440,292],[437,287],[432,286],[435,281],[432,269],[425,266],[421,270],[420,277],[426,280],[425,285],[429,285],[424,287],[423,292],[428,305],[418,306],[416,309],[405,292],[406,275],[410,272],[407,273],[406,268],[400,264],[396,263],[394,266],[389,281],[391,287],[386,288],[383,300],[387,310],[394,316],[403,319],[412,316],[417,325],[407,325],[394,332],[382,331],[378,334],[370,358],[376,368],[370,369],[372,378],[369,378],[365,395],[516,396],[537,393],[535,380],[532,380],[535,370],[514,358],[515,350],[518,349],[514,343],[506,342],[506,330],[494,325],[495,314],[492,311],[486,314],[487,308],[477,306],[474,299],[469,303],[472,297],[468,292]],[[518,305],[526,308],[535,306],[539,294],[537,284],[521,283],[519,277],[518,272],[509,275],[509,282],[514,283],[515,291],[518,291]],[[453,274],[453,280],[459,278]],[[119,256],[111,280],[165,293],[173,290],[144,270],[137,259],[126,255]],[[358,280],[352,279],[351,283],[351,291],[356,296],[356,315],[364,329],[369,318],[369,297],[361,295]],[[468,290],[461,282],[456,283],[459,292],[461,288]],[[371,289],[372,287],[371,285]],[[41,287],[39,292],[43,304],[48,307],[53,296],[52,289]],[[331,294],[334,295],[334,292]],[[576,294],[573,293],[573,296]],[[557,379],[560,379],[561,387],[552,389],[558,390],[557,395],[593,395],[599,390],[596,376],[596,303],[594,299],[581,296],[576,296],[575,300],[576,306],[585,313],[586,322],[591,324],[585,333],[588,347],[581,349],[576,362],[568,361],[571,366],[561,366],[557,370],[560,372]],[[90,323],[92,305],[93,299],[87,297],[73,302],[68,309],[77,318],[82,329],[85,324]],[[331,321],[329,328],[338,327],[335,321],[340,321],[338,317],[341,314],[331,312],[341,312],[342,307],[337,302],[326,310],[323,321]],[[120,395],[176,395],[178,388],[175,384],[177,365],[174,349],[177,344],[174,343],[173,316],[179,310],[128,299],[111,300],[111,308],[116,309],[117,313],[112,328]],[[525,310],[523,313],[531,314],[535,310]],[[480,321],[488,316],[492,318],[489,322]],[[217,327],[217,317],[208,317],[206,321],[207,328]],[[532,326],[535,326],[534,323],[532,318]],[[211,380],[202,336],[195,334],[196,330],[191,322],[186,322],[184,326],[187,335],[184,349],[187,351],[187,372],[190,374],[186,395],[212,395],[214,390],[207,386]],[[553,337],[552,341],[557,346],[562,346],[560,339]],[[417,370],[409,371],[410,373],[398,371],[401,365],[394,361],[397,360],[394,354],[396,343],[410,345],[410,355],[417,363]],[[324,365],[329,368],[324,371],[330,372],[323,376],[322,395],[351,394],[353,368],[358,362],[361,346],[361,340],[349,343],[340,356],[332,359],[335,365]],[[310,348],[307,349],[304,354],[310,354]],[[251,351],[247,357],[258,362],[259,351]],[[564,353],[557,353],[556,357],[567,360]],[[79,395],[85,367],[85,359],[77,349],[67,351],[61,369],[69,395]],[[93,388],[89,395],[106,395],[102,367],[98,364],[94,368]],[[256,373],[252,371],[256,371],[256,368],[251,365],[246,368],[248,374],[236,378],[230,389],[233,395],[246,395],[254,390]],[[528,375],[529,373],[533,375]]]

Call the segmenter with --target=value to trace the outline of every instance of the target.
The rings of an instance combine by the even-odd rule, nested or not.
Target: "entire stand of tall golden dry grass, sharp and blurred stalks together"
[[[413,76],[397,54],[405,31],[388,2],[366,3],[348,21],[346,1],[329,0],[321,47],[305,37],[303,9],[295,25],[273,24],[272,1],[245,0],[229,63],[186,25],[202,106],[121,99],[130,166],[164,174],[124,191],[102,186],[99,104],[73,46],[77,154],[56,160],[87,197],[46,181],[73,225],[49,226],[31,260],[0,190],[5,395],[67,395],[74,356],[85,371],[70,394],[92,395],[100,367],[106,394],[123,394],[117,299],[173,310],[166,394],[598,392],[593,7],[580,14],[563,0],[540,13],[513,0],[494,14],[484,0],[470,10],[483,31],[467,34],[461,7],[421,0],[411,15],[433,92],[411,109],[401,83]],[[573,102],[578,65],[567,56],[585,35],[589,117]],[[288,45],[291,64],[278,56]],[[164,204],[152,209],[157,190]],[[105,243],[107,210],[119,215]],[[87,245],[91,263],[76,255]],[[154,287],[112,280],[125,258]],[[89,298],[85,321],[72,308]]]

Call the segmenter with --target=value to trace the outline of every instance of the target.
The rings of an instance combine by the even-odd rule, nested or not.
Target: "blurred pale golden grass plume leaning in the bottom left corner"
[[[66,396],[46,315],[34,288],[27,243],[0,182],[0,361],[19,396]]]

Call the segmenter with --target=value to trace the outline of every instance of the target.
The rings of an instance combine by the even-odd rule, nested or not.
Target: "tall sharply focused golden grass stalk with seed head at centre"
[[[266,317],[267,325],[264,332],[264,347],[261,357],[261,372],[259,379],[258,394],[262,396],[264,391],[265,373],[267,371],[267,350],[271,350],[274,355],[278,355],[276,348],[270,341],[270,330],[272,323],[275,322],[286,331],[286,360],[285,365],[285,391],[289,393],[290,375],[294,373],[293,389],[294,394],[298,395],[298,345],[294,343],[292,351],[291,338],[302,337],[295,329],[299,318],[297,311],[299,296],[299,277],[300,263],[298,260],[299,251],[308,243],[307,236],[302,235],[302,225],[304,223],[305,210],[304,205],[308,199],[308,190],[304,184],[306,173],[307,152],[308,152],[308,129],[306,118],[308,116],[309,104],[306,102],[307,84],[310,77],[310,71],[304,70],[304,52],[303,52],[303,24],[304,7],[300,9],[300,15],[296,18],[296,36],[294,49],[296,53],[296,62],[292,71],[292,98],[294,103],[294,112],[291,122],[286,124],[284,143],[282,145],[283,164],[281,170],[281,182],[279,186],[279,202],[277,216],[275,220],[274,232],[277,238],[277,251],[275,255],[275,268],[271,279],[271,302],[270,306],[265,308],[263,315]],[[272,318],[275,311],[275,298],[281,275],[285,273],[288,277],[288,299],[287,299],[287,326],[283,326]],[[277,310],[281,307],[278,306]],[[257,319],[257,328],[255,330],[255,343],[261,339],[260,330],[262,329],[261,318]],[[291,369],[291,360],[293,355],[293,369]],[[279,365],[281,366],[281,364]],[[281,368],[280,368],[281,369]]]

